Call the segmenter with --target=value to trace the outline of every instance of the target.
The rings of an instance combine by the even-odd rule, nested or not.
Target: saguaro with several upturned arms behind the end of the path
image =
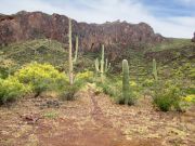
[[[105,72],[107,72],[110,68],[110,63],[108,64],[107,58],[104,62],[104,44],[102,44],[102,58],[99,61],[99,58],[95,59],[95,70],[98,74],[101,74],[101,80],[104,81]]]

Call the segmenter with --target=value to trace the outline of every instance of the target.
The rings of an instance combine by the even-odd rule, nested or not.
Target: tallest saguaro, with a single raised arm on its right
[[[77,62],[78,55],[78,36],[76,36],[76,51],[75,51],[75,58],[73,59],[73,49],[72,49],[72,19],[69,18],[69,32],[68,32],[68,40],[69,40],[69,84],[74,83],[74,63]]]

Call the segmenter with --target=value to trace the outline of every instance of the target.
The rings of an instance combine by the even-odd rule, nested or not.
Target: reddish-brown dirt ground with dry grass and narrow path
[[[27,98],[0,107],[0,146],[195,146],[195,112],[116,105],[89,85],[74,102]]]

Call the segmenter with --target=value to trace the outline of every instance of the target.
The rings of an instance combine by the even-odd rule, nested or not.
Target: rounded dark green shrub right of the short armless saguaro
[[[155,88],[153,102],[161,111],[169,111],[171,109],[181,111],[181,89],[177,85],[170,85],[170,83],[165,83],[164,85],[158,84],[158,87]]]

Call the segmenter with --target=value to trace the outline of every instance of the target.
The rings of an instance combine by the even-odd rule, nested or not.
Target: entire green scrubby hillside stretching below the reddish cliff
[[[0,48],[0,52],[3,62],[9,61],[13,63],[12,66],[15,69],[24,64],[36,61],[39,63],[50,63],[60,70],[64,70],[68,66],[68,52],[66,48],[66,45],[57,41],[37,39],[11,43],[8,47]],[[130,63],[130,77],[139,82],[146,77],[151,78],[153,58],[157,61],[158,71],[161,78],[195,78],[195,44],[187,39],[173,39],[170,42],[165,41],[139,50],[131,48],[123,49],[115,59],[110,59],[112,54],[106,50],[106,57],[112,63],[112,72],[120,75],[121,59],[127,58]],[[76,70],[94,70],[94,59],[96,57],[99,57],[98,53],[79,52]],[[65,69],[65,71],[67,70]]]

